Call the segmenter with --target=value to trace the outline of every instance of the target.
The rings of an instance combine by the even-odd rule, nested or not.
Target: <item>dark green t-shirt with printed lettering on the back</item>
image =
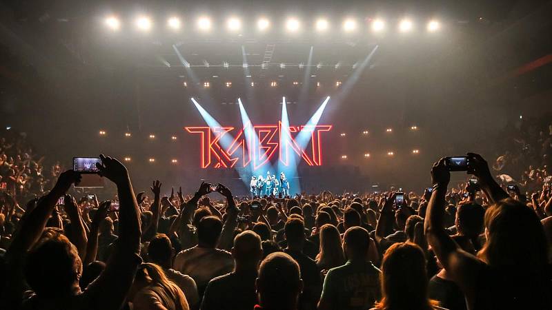
[[[332,309],[365,310],[380,299],[380,269],[371,262],[351,262],[328,271],[322,298]]]

